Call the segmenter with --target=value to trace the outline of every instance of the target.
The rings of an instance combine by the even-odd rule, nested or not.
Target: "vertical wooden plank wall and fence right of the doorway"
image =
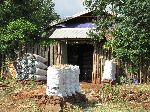
[[[111,58],[112,55],[110,51],[104,50],[100,44],[94,45],[92,83],[101,83],[104,62],[105,60]],[[129,63],[125,63],[121,60],[116,60],[116,65],[116,78],[123,74],[127,78],[134,78],[135,74],[128,72],[127,68],[131,66]],[[150,82],[150,61],[142,62],[141,65],[139,65],[139,71],[136,75],[140,83]]]

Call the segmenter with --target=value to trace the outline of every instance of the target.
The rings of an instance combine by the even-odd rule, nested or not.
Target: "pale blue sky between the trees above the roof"
[[[85,11],[83,1],[84,0],[53,0],[55,3],[55,11],[61,18]]]

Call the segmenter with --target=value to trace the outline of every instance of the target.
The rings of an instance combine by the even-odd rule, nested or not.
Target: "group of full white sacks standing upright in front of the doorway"
[[[72,96],[76,92],[80,93],[79,74],[78,66],[58,65],[48,67],[46,94],[66,97]]]

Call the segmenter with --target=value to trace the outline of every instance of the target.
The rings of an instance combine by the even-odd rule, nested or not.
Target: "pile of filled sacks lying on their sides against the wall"
[[[44,64],[47,59],[27,53],[22,59],[19,59],[17,64],[17,79],[18,80],[46,80],[47,66]]]

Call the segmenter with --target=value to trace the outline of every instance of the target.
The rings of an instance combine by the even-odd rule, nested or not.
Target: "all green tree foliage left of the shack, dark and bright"
[[[52,0],[1,0],[1,53],[18,49],[18,44],[39,42],[48,24],[58,17]]]

